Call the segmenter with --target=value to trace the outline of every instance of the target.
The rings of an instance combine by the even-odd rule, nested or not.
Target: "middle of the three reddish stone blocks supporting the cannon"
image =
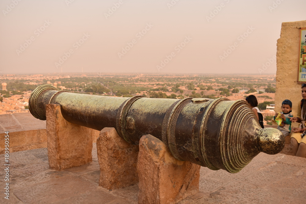
[[[101,172],[99,186],[112,190],[138,183],[138,146],[127,143],[115,128],[101,130],[97,153]]]

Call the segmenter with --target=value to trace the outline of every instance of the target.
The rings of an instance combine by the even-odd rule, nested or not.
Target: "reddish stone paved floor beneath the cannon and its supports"
[[[49,169],[47,148],[11,153],[9,161],[7,200],[0,155],[0,203],[137,203],[137,185],[99,187],[95,143],[91,163],[62,171]],[[306,203],[306,159],[260,153],[237,174],[201,167],[200,192],[180,202],[187,203]]]

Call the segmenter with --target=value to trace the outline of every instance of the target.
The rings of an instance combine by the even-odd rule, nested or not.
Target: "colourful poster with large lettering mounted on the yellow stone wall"
[[[300,48],[299,48],[299,75],[298,82],[306,81],[306,28],[300,28]]]

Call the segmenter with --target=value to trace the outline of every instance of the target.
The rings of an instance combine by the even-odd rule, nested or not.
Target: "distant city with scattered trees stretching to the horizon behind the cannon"
[[[39,85],[51,84],[72,93],[150,98],[257,97],[266,124],[274,116],[275,75],[56,73],[0,75],[0,114],[28,112],[28,99]]]

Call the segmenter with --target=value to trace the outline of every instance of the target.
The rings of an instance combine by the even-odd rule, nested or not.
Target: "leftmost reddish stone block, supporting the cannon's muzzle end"
[[[92,161],[92,132],[66,121],[59,104],[46,105],[47,146],[50,169],[62,170]]]

